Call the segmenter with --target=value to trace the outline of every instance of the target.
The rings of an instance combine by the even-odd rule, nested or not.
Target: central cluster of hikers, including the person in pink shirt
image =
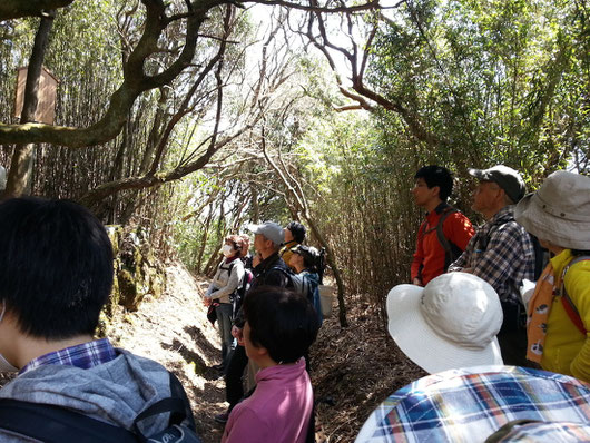
[[[313,441],[307,351],[322,324],[322,254],[302,245],[306,229],[297,222],[248,229],[256,254],[248,253],[247,235],[228,236],[204,295],[209,319],[218,322],[222,363],[215,368],[229,404],[215,420],[225,424],[223,442]]]

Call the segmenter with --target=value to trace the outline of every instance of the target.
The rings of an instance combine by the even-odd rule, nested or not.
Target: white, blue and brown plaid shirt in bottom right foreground
[[[513,420],[588,423],[590,384],[517,366],[451,370],[387,397],[356,443],[483,442]]]

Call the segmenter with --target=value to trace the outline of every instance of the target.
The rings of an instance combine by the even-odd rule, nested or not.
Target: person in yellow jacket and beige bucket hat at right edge
[[[529,302],[527,357],[590,382],[590,177],[551,174],[514,217],[555,254]]]

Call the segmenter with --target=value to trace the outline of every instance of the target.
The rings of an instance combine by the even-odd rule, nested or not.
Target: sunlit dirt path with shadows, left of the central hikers
[[[210,366],[219,363],[220,344],[197,289],[206,289],[208,282],[195,279],[178,264],[169,266],[167,275],[163,297],[144,301],[136,313],[119,313],[108,335],[117,346],[174,371],[190,398],[203,443],[217,443],[223,427],[213,416],[226,408],[225,384]]]

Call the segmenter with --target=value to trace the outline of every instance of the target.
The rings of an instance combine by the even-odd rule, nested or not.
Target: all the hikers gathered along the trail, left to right
[[[427,214],[411,284],[387,296],[389,332],[433,375],[390,397],[357,441],[479,441],[470,435],[515,419],[535,422],[519,430],[545,432],[563,416],[572,423],[560,431],[590,435],[590,178],[557,171],[525,195],[509,167],[469,173],[472,208],[485,219],[476,230],[446,204],[449,170],[415,175],[412,194]],[[248,236],[225,238],[203,295],[222,339],[222,441],[313,441],[307,353],[323,319],[323,256],[302,244],[296,222],[248,228],[256,253]],[[550,253],[542,272],[541,247]],[[114,268],[90,211],[68,200],[2,201],[0,249],[0,371],[18,372],[0,390],[0,441],[199,441],[174,374],[95,338]]]

